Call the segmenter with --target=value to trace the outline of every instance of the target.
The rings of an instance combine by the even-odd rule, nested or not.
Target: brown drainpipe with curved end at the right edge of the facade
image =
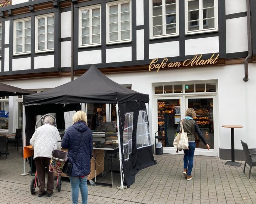
[[[244,81],[248,81],[248,61],[252,57],[252,46],[251,46],[251,12],[250,12],[250,0],[246,0],[247,10],[247,36],[248,36],[248,55],[245,58],[245,77]]]

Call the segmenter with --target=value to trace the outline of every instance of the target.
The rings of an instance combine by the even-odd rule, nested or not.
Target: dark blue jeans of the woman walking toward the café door
[[[184,169],[187,169],[187,175],[190,176],[193,168],[194,162],[194,150],[196,149],[196,142],[188,142],[188,149],[183,149],[184,151]]]

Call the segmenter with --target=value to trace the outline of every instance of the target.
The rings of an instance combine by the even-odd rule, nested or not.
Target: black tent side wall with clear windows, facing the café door
[[[138,116],[140,111],[146,112],[145,103],[142,101],[129,101],[125,103],[119,103],[118,107],[124,184],[129,187],[135,182],[135,176],[139,170],[152,166],[156,164],[156,162],[153,156],[152,145],[137,149]],[[129,117],[133,118],[131,143],[129,143],[129,139],[127,139],[127,135],[129,135],[129,132],[131,131],[131,129],[129,128],[131,124],[125,123],[126,114],[129,114]],[[148,118],[147,115],[146,118]],[[128,145],[123,145],[123,141],[124,144],[128,143]],[[129,149],[131,149],[130,154]]]

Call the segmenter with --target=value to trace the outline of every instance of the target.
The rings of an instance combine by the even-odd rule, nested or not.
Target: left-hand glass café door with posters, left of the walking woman
[[[173,147],[175,132],[180,120],[184,117],[183,113],[183,98],[182,97],[165,97],[157,98],[157,130],[156,135],[161,135],[164,153],[170,153]],[[165,148],[166,147],[166,148]],[[167,152],[166,152],[167,151]]]

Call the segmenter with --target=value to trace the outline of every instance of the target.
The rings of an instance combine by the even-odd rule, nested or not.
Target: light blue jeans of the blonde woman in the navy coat
[[[81,191],[82,204],[87,204],[88,188],[87,176],[81,178],[77,176],[69,176],[71,190],[72,190],[72,204],[78,203],[79,188]]]

